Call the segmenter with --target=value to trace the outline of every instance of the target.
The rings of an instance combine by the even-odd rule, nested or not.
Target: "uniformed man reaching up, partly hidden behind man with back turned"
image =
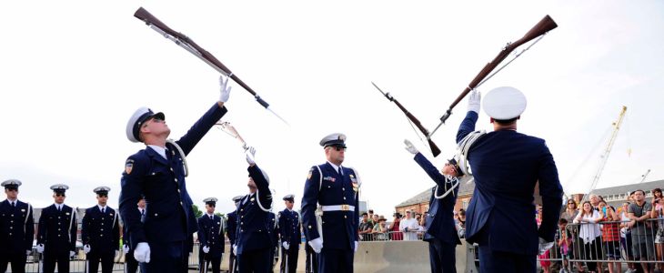
[[[406,150],[415,155],[415,162],[418,162],[419,167],[436,183],[436,186],[431,188],[428,213],[424,215],[427,230],[424,240],[428,241],[431,272],[457,272],[455,248],[461,244],[461,240],[458,239],[454,223],[454,205],[457,204],[458,179],[464,174],[456,158],[449,159],[438,171],[410,141],[404,140],[404,143]]]

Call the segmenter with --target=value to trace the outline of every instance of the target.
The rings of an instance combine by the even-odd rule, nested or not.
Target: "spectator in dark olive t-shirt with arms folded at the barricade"
[[[632,229],[632,252],[635,259],[641,260],[643,272],[649,273],[647,260],[655,258],[655,249],[652,234],[652,224],[648,222],[652,205],[646,201],[646,192],[642,189],[634,191],[634,204],[628,207],[628,217],[631,220],[628,227]]]

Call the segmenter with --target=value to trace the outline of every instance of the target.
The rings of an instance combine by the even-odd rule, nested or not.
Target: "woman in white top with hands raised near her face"
[[[599,199],[598,199],[599,202]],[[602,219],[599,212],[590,205],[590,201],[583,202],[581,211],[577,217],[574,218],[574,223],[580,223],[581,227],[578,231],[578,238],[581,239],[583,244],[582,259],[598,259],[599,253],[602,253],[598,222]],[[590,272],[595,272],[597,263],[587,263]],[[580,269],[580,268],[578,268]],[[601,269],[601,268],[600,268]]]

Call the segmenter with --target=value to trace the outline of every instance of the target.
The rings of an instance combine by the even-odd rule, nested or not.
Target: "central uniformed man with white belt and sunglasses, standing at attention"
[[[353,272],[357,251],[359,177],[342,167],[346,136],[320,141],[327,163],[311,167],[302,197],[302,218],[309,245],[318,253],[318,272]],[[317,207],[320,205],[320,207]]]

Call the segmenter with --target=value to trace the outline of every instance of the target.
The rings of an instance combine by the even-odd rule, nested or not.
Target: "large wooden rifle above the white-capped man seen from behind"
[[[546,15],[546,16],[544,16],[544,18],[542,18],[539,21],[539,23],[537,25],[533,26],[528,31],[528,33],[526,33],[526,35],[523,35],[522,38],[518,39],[514,43],[508,43],[508,45],[505,45],[505,47],[503,47],[503,49],[500,51],[500,53],[498,53],[498,56],[496,56],[493,59],[493,61],[488,63],[486,66],[484,66],[484,68],[482,68],[482,70],[479,71],[478,76],[475,76],[475,78],[470,82],[468,87],[466,87],[466,89],[464,89],[463,92],[461,92],[461,94],[457,97],[457,99],[455,99],[454,102],[452,102],[452,104],[449,105],[449,108],[445,112],[445,114],[443,114],[443,116],[440,116],[440,123],[438,124],[438,126],[436,126],[436,128],[433,130],[433,132],[431,132],[431,135],[436,133],[438,128],[440,126],[442,126],[445,123],[446,120],[448,120],[448,117],[450,115],[452,115],[452,108],[454,108],[454,106],[457,106],[458,102],[460,102],[461,99],[464,98],[464,96],[468,95],[470,90],[473,90],[476,87],[481,86],[482,84],[484,84],[484,82],[486,82],[489,78],[491,78],[491,76],[496,75],[496,73],[498,73],[500,70],[502,70],[505,66],[508,66],[509,63],[514,61],[514,59],[516,59],[518,56],[520,56],[524,52],[526,52],[530,48],[530,46],[532,46],[532,45],[528,46],[528,48],[526,48],[523,51],[521,51],[520,53],[518,53],[518,55],[515,56],[514,59],[510,60],[508,62],[508,64],[506,64],[505,66],[500,67],[498,69],[498,71],[491,74],[491,76],[488,76],[488,74],[491,73],[491,71],[493,71],[496,68],[496,66],[498,66],[500,64],[500,62],[502,62],[505,58],[507,58],[509,56],[509,54],[512,51],[514,51],[514,49],[516,49],[519,45],[523,45],[525,43],[528,43],[530,40],[535,39],[538,36],[546,35],[549,30],[554,29],[556,27],[558,27],[556,22],[554,22],[553,19],[551,19],[551,17],[549,15]],[[540,37],[540,39],[541,39],[541,37]],[[539,41],[539,39],[538,39],[538,41]],[[535,41],[535,43],[537,43],[538,41]],[[533,45],[535,43],[533,43]],[[485,79],[485,77],[486,77],[486,79]],[[429,137],[429,136],[427,136],[427,137]]]

